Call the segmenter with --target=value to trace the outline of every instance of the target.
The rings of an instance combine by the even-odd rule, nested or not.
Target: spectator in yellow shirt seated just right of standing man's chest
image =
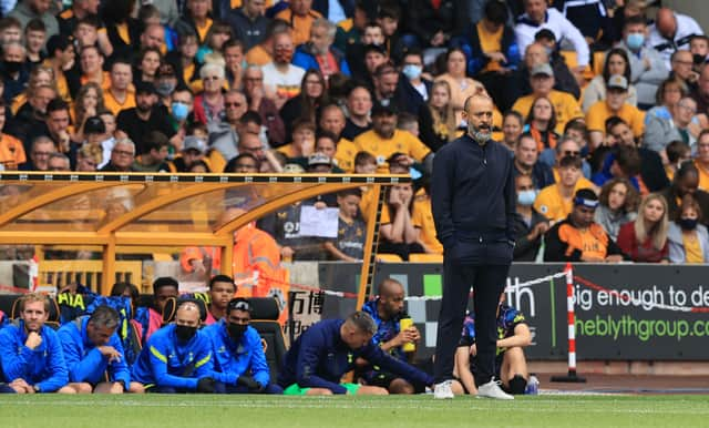
[[[582,177],[580,157],[564,156],[558,169],[558,182],[542,188],[534,201],[534,210],[551,222],[561,222],[566,218],[574,207],[574,194],[578,190],[585,188],[579,184]]]

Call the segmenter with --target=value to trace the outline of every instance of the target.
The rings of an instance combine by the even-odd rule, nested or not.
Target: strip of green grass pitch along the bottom
[[[707,396],[1,396],[0,427],[702,427]]]

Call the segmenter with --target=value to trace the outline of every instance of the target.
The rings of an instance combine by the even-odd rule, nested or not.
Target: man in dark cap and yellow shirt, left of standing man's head
[[[354,139],[354,144],[377,157],[378,172],[387,172],[387,160],[394,153],[425,164],[431,150],[410,132],[397,129],[397,111],[392,106],[376,104],[371,115],[372,129]]]

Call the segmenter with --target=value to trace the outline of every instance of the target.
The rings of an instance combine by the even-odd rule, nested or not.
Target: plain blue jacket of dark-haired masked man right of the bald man
[[[254,327],[248,327],[239,343],[235,343],[226,330],[226,322],[219,319],[204,328],[212,342],[215,378],[226,385],[236,385],[236,379],[250,369],[254,380],[266,387],[270,371],[261,345],[261,337]]]

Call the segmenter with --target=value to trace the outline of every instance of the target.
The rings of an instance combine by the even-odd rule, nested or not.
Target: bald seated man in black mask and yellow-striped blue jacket
[[[175,323],[155,332],[133,365],[131,378],[147,393],[215,393],[212,343],[199,332],[199,307],[183,302]]]

